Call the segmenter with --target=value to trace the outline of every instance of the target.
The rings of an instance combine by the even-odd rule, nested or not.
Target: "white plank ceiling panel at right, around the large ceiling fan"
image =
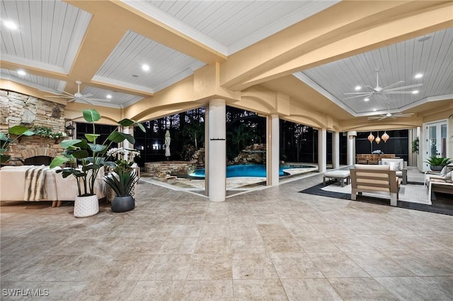
[[[417,83],[423,85],[401,90],[418,90],[417,94],[372,95],[368,101],[364,100],[365,97],[345,99],[354,96],[345,93],[371,91],[365,85],[375,88],[376,68],[379,68],[379,86],[382,88],[397,81],[404,83],[391,88]],[[423,77],[414,78],[417,73],[422,73]],[[355,116],[386,112],[389,107],[391,112],[401,112],[428,98],[449,99],[453,97],[453,28],[334,61],[294,75],[306,83],[311,83],[317,90],[330,94],[331,100]],[[356,91],[357,85],[362,86],[362,89]]]

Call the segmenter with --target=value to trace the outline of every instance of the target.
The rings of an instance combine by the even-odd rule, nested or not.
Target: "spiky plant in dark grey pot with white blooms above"
[[[134,189],[139,180],[138,170],[134,168],[134,157],[139,151],[126,148],[110,148],[108,156],[117,156],[113,172],[104,177],[104,181],[115,193],[111,209],[113,212],[125,212],[135,208]]]

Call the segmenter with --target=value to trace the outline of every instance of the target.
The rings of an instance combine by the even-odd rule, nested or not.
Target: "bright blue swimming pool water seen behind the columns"
[[[309,165],[281,165],[279,168],[278,175],[280,177],[289,175],[284,170],[289,168],[309,168],[313,166]],[[226,166],[226,177],[265,177],[266,166],[259,164],[246,164],[246,165],[231,165]],[[190,177],[205,177],[205,169],[200,168],[190,174]]]

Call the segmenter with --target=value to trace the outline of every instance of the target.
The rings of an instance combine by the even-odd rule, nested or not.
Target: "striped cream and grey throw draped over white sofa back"
[[[49,167],[31,167],[25,172],[24,201],[39,201],[47,197],[45,174]]]

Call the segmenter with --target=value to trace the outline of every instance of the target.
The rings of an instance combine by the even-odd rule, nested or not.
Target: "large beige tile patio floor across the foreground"
[[[321,175],[224,203],[140,183],[90,218],[0,207],[1,300],[452,300],[453,216],[300,194]]]

